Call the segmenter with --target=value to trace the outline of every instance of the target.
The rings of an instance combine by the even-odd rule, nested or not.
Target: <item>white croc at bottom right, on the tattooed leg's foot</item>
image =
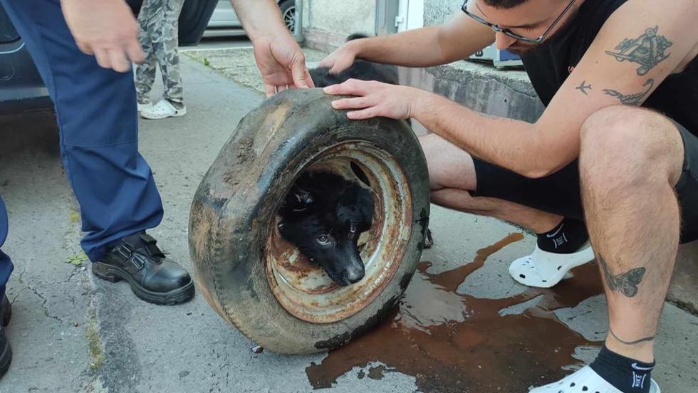
[[[640,383],[645,383],[641,381]],[[589,366],[560,379],[558,382],[536,387],[528,393],[623,393],[596,374]],[[650,393],[662,393],[662,389],[650,378]]]

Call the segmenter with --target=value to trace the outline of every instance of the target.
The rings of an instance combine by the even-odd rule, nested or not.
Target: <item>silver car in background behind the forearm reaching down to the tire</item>
[[[288,30],[293,31],[296,27],[296,1],[295,0],[276,0],[278,7],[281,9],[283,23],[286,23]],[[223,37],[223,36],[244,36],[242,24],[235,14],[235,10],[230,4],[230,0],[219,0],[216,8],[213,11],[209,20],[204,37]]]

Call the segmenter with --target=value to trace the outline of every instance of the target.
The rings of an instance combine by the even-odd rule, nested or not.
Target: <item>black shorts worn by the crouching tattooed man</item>
[[[698,239],[698,137],[676,124],[684,141],[684,170],[674,188],[681,206],[681,241]],[[553,214],[584,219],[578,161],[539,179],[474,158],[477,189],[472,196],[516,202]]]

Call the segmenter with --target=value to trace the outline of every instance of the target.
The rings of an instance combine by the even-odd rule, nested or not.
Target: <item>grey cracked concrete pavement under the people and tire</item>
[[[238,50],[217,57],[237,56],[236,75],[242,76],[226,74],[237,78],[237,83],[184,57],[187,116],[140,123],[141,151],[155,172],[165,204],[165,219],[151,234],[171,258],[189,270],[187,221],[199,179],[240,118],[263,99],[259,91],[244,86],[254,83],[254,69],[250,69],[254,63],[248,52]],[[259,85],[259,81],[256,83]],[[157,93],[160,88],[156,86],[153,91]],[[226,325],[200,295],[184,305],[150,305],[135,298],[125,283],[100,281],[84,270],[88,262],[80,261],[77,209],[53,144],[51,118],[32,115],[0,119],[0,140],[5,140],[8,132],[26,129],[45,135],[42,139],[46,142],[41,147],[24,148],[19,140],[13,142],[11,152],[5,148],[0,152],[0,192],[11,220],[4,251],[16,262],[8,287],[14,299],[14,315],[7,329],[15,357],[8,374],[0,380],[0,392],[312,389],[306,367],[321,364],[325,354],[254,354],[250,351],[252,343]],[[431,221],[436,246],[423,257],[433,263],[431,273],[469,263],[477,250],[520,232],[494,219],[436,207]],[[533,237],[525,236],[496,251],[482,268],[467,276],[458,293],[485,299],[522,293],[525,288],[509,278],[506,267],[532,247]],[[535,309],[536,299],[526,306]],[[514,307],[506,313],[524,311]],[[593,342],[604,335],[603,296],[593,296],[575,308],[557,310],[556,315],[585,340]],[[536,340],[535,334],[521,331],[526,340]],[[659,365],[653,374],[665,392],[690,393],[698,386],[694,373],[698,364],[697,337],[698,318],[667,304],[657,336]],[[544,342],[546,337],[539,340]],[[576,352],[577,357],[589,360],[595,345],[580,347]],[[394,365],[385,364],[388,372],[382,374],[375,372],[377,366],[380,362],[352,367],[336,379],[331,391],[412,392],[418,387],[443,391],[424,388],[419,375],[399,372]],[[461,377],[453,375],[453,384]],[[444,386],[449,384],[442,382]]]

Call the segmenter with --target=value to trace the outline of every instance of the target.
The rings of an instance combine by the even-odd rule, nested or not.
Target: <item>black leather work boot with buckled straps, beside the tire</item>
[[[92,264],[92,271],[113,283],[127,281],[133,293],[149,303],[172,305],[192,299],[191,276],[177,262],[165,258],[155,243],[145,232],[126,236]]]

